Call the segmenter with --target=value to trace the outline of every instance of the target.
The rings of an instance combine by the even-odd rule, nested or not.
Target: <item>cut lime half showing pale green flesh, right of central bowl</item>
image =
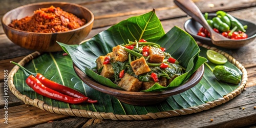
[[[206,56],[208,60],[216,65],[223,65],[227,62],[227,58],[214,50],[207,50]]]

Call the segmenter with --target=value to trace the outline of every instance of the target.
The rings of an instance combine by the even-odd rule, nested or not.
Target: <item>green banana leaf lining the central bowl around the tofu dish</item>
[[[180,28],[174,27],[164,34],[161,22],[154,10],[144,15],[123,20],[81,45],[66,45],[61,42],[58,44],[71,56],[75,65],[89,77],[104,86],[121,90],[110,79],[102,77],[90,69],[96,67],[95,61],[100,55],[112,52],[113,47],[129,43],[129,40],[142,38],[156,42],[161,47],[166,48],[166,52],[170,53],[180,62],[180,65],[186,68],[186,72],[175,78],[167,87],[162,87],[156,83],[152,88],[143,92],[163,91],[178,87],[207,61],[198,56],[200,49],[196,41]]]

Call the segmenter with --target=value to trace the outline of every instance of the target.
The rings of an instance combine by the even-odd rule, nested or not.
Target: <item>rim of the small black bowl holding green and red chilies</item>
[[[209,13],[209,16],[216,16],[216,13]],[[234,17],[234,16],[233,16],[233,17]],[[251,24],[254,24],[254,23],[252,23],[251,21],[246,20],[246,19],[241,19],[241,18],[237,18],[237,17],[234,17],[234,18],[236,18],[236,19],[238,19],[238,20],[243,20],[243,21],[248,22],[248,23],[251,23]],[[190,32],[190,31],[188,31],[188,29],[187,29],[187,28],[188,28],[188,23],[190,23],[190,22],[199,23],[199,22],[197,22],[194,18],[189,18],[189,19],[187,19],[187,20],[185,21],[184,25],[183,25],[183,27],[184,27],[184,29],[185,29],[185,31],[186,31],[187,33],[189,33],[190,35],[193,35],[193,36],[195,36],[195,37],[197,37],[197,38],[200,38],[200,39],[202,39],[202,40],[211,41],[211,39],[208,38],[208,37],[198,36],[196,33],[192,33],[192,32]],[[199,24],[200,24],[200,23],[199,23]],[[200,24],[200,25],[201,25],[201,24]],[[238,40],[234,40],[234,41],[243,41],[243,40],[248,40],[248,39],[255,38],[255,37],[256,37],[256,33],[253,34],[252,36],[249,36],[248,38],[245,38],[245,39],[238,39]]]

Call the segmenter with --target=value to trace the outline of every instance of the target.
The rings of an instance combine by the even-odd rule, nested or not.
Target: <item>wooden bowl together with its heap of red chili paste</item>
[[[66,2],[29,4],[2,18],[3,29],[14,44],[41,52],[61,51],[56,41],[79,44],[93,23],[94,15],[89,9]]]

